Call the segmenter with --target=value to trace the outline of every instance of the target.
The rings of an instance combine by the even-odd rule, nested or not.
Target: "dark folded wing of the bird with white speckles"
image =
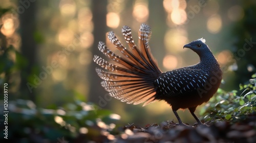
[[[181,68],[163,73],[156,81],[159,96],[182,96],[204,89],[209,75],[202,70]]]

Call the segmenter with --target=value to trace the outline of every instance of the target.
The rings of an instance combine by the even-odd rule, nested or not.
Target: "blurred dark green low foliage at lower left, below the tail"
[[[81,101],[42,109],[31,101],[19,99],[10,101],[9,113],[8,140],[5,140],[9,142],[57,142],[62,137],[102,142],[106,139],[102,132],[111,132],[120,118],[109,110]],[[1,138],[4,139],[3,134]]]

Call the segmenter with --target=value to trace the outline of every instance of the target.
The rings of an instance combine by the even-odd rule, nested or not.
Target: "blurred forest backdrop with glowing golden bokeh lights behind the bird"
[[[125,44],[121,28],[130,26],[137,41],[143,22],[152,28],[151,51],[162,71],[196,64],[199,57],[183,45],[203,37],[221,64],[223,90],[239,90],[256,72],[253,0],[2,0],[1,93],[8,83],[9,102],[29,100],[46,109],[92,102],[120,115],[120,125],[177,122],[164,102],[142,107],[109,97],[96,75],[93,55],[104,57],[98,42],[117,51],[106,38],[108,31]],[[183,122],[195,123],[187,110],[179,112]]]

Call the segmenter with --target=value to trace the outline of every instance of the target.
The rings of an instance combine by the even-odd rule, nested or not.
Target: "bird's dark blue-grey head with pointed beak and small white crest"
[[[209,47],[205,44],[205,39],[203,39],[203,38],[200,38],[200,39],[192,41],[188,44],[185,44],[183,46],[183,48],[184,47],[187,47],[187,48],[193,50],[194,52],[196,52],[200,56],[200,58],[204,54],[211,53],[209,50]]]

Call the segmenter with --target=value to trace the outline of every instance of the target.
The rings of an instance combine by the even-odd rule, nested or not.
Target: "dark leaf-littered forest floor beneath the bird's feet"
[[[228,122],[204,123],[188,127],[174,122],[133,124],[119,128],[121,134],[110,142],[256,142],[256,115],[236,124]]]

